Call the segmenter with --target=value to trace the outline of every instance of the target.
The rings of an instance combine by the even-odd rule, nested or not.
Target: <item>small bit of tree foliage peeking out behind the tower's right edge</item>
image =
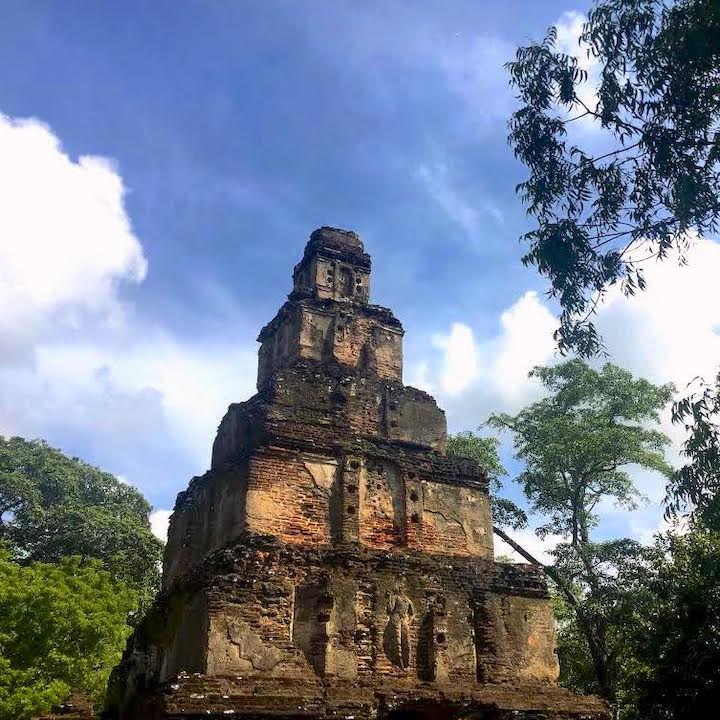
[[[476,462],[487,474],[490,482],[490,502],[493,521],[499,527],[521,528],[527,525],[527,515],[512,500],[500,497],[502,478],[507,470],[500,462],[495,437],[482,437],[470,430],[448,436],[447,454],[449,457],[463,457]]]

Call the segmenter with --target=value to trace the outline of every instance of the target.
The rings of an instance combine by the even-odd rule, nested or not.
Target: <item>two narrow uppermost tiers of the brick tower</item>
[[[360,238],[315,230],[295,266],[293,291],[258,336],[258,389],[299,360],[402,381],[402,325],[369,297],[370,256]]]

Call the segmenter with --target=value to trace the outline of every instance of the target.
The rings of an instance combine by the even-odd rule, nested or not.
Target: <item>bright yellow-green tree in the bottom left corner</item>
[[[0,551],[0,720],[25,720],[71,691],[100,701],[138,591],[97,560],[13,562]]]

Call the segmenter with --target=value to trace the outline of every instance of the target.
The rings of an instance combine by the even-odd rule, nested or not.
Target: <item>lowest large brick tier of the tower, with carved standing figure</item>
[[[550,706],[554,697],[558,712],[567,711],[570,700],[579,702],[564,691],[553,695],[554,627],[543,609],[549,604],[542,575],[528,566],[308,549],[243,536],[158,600],[144,621],[155,630],[141,626],[136,633],[116,687],[127,686],[129,672],[136,681],[142,676],[148,690],[157,686],[159,668],[168,667],[163,657],[177,653],[170,648],[190,627],[168,612],[177,596],[181,607],[207,608],[207,630],[197,613],[192,619],[205,642],[201,677],[210,685],[212,677],[234,678],[245,710],[248,694],[268,678],[288,688],[296,683],[296,700],[302,700],[301,688],[317,689],[318,683],[327,689],[339,682],[338,692],[347,697],[367,687],[427,691],[430,683],[448,698],[453,688],[463,696],[503,683],[522,688],[526,698],[544,697]],[[586,709],[602,709],[587,702]]]

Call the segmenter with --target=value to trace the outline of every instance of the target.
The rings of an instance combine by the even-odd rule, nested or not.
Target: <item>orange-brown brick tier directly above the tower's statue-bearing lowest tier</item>
[[[245,531],[287,543],[353,542],[492,557],[487,490],[445,481],[438,470],[452,471],[446,463],[437,454],[403,455],[396,449],[380,455],[260,447],[237,464],[194,479],[180,494],[164,584]]]

